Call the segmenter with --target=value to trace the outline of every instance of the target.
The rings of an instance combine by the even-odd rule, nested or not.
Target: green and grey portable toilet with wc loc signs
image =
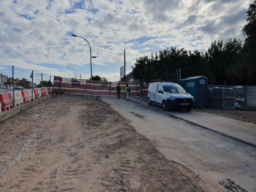
[[[194,107],[208,106],[208,78],[204,76],[184,79],[185,90],[194,96]]]

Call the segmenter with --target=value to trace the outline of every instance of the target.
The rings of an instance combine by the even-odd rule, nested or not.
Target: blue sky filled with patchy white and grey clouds
[[[124,63],[168,44],[204,52],[214,40],[244,40],[253,0],[0,0],[0,63],[62,77],[115,81]],[[126,68],[130,72],[129,66]],[[126,72],[126,74],[127,74]]]

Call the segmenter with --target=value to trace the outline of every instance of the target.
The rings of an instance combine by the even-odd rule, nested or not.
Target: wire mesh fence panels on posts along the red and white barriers
[[[51,75],[0,63],[0,112],[49,95]]]

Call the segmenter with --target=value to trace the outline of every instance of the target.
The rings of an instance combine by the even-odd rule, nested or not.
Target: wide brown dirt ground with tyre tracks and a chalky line
[[[61,103],[62,101],[62,103]],[[0,124],[0,191],[202,191],[101,100],[63,95]]]

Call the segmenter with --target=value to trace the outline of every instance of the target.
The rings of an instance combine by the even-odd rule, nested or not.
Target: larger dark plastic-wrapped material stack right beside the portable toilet
[[[212,108],[235,110],[235,90],[215,87],[212,89]]]

